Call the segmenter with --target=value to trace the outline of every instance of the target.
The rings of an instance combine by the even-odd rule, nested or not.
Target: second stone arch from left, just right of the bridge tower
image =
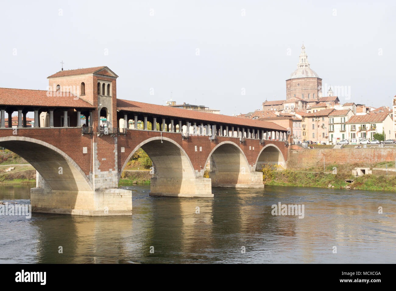
[[[126,164],[139,148],[143,148],[152,160],[154,176],[167,179],[196,178],[194,167],[185,150],[167,137],[151,137],[135,146],[122,165],[120,173],[124,171]]]

